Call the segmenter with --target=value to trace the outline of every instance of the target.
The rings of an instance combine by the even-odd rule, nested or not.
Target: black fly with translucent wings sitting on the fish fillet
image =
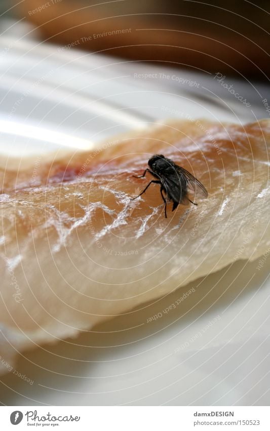
[[[188,189],[196,192],[198,195],[207,197],[208,193],[205,186],[197,180],[197,178],[164,155],[153,155],[148,160],[148,165],[150,169],[145,169],[144,173],[139,177],[135,175],[133,175],[133,177],[143,178],[146,172],[149,172],[153,177],[157,178],[157,180],[150,181],[145,189],[132,200],[143,194],[150,184],[160,184],[160,192],[165,204],[165,217],[167,218],[166,206],[168,200],[173,202],[172,211],[174,211],[179,204],[187,205],[191,202],[191,204],[197,205],[187,197]],[[166,196],[164,196],[163,192],[166,193]]]

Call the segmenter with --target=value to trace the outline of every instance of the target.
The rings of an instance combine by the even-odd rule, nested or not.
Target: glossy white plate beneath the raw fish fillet
[[[101,139],[165,118],[246,122],[266,116],[267,89],[244,80],[223,79],[250,106],[215,75],[16,41],[8,32],[0,47],[3,153],[93,148]],[[141,311],[21,355],[16,369],[33,383],[13,373],[2,377],[0,401],[268,405],[270,284],[264,260],[261,269],[258,261],[234,263]],[[166,312],[190,289],[181,306]]]

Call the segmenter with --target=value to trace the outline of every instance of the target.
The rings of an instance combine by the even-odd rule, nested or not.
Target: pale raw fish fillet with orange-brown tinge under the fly
[[[270,251],[270,121],[154,124],[92,152],[2,158],[0,354],[57,342],[238,259]],[[164,217],[153,154],[208,198]],[[190,194],[191,196],[191,194]],[[0,368],[1,369],[1,368]],[[2,367],[7,372],[7,366]]]

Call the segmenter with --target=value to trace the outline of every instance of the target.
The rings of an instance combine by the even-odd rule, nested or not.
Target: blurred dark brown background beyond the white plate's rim
[[[43,41],[173,67],[266,80],[267,0],[2,0],[2,20]]]

